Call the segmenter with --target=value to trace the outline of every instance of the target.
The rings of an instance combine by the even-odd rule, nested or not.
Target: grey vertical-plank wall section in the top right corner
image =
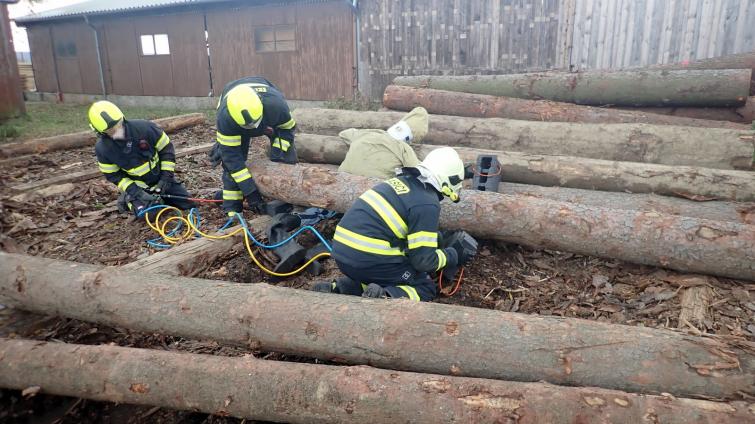
[[[755,50],[753,0],[565,0],[564,11],[573,14],[563,56],[573,70]]]

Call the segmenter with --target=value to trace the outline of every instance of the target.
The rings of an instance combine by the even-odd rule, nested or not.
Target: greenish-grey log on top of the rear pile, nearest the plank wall
[[[401,76],[395,85],[583,105],[740,106],[751,69]]]

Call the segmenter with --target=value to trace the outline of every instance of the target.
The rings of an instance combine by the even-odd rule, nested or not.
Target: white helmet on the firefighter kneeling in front
[[[420,173],[427,175],[427,182],[441,194],[456,203],[460,200],[461,184],[464,181],[464,162],[456,150],[441,147],[430,152],[417,165]]]

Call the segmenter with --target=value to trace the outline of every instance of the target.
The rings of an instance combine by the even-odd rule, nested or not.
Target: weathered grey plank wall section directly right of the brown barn
[[[397,75],[553,68],[559,0],[363,0],[362,91],[380,97]]]

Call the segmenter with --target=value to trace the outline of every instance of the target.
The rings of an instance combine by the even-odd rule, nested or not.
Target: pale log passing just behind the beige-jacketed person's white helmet
[[[302,132],[338,135],[347,128],[386,129],[400,112],[297,109]],[[662,165],[752,169],[753,131],[647,124],[572,124],[430,115],[423,143]]]

